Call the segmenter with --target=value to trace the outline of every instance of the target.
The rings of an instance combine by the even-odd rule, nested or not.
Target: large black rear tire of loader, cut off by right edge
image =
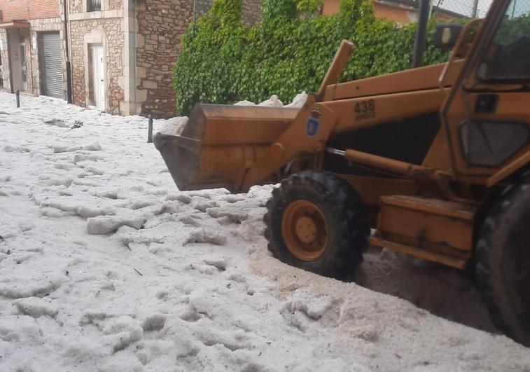
[[[499,329],[530,346],[530,177],[508,187],[482,224],[475,280]]]

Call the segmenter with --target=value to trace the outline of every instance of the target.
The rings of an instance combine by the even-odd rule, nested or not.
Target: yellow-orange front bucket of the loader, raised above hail
[[[180,135],[157,133],[155,147],[181,191],[239,192],[246,171],[300,109],[195,104]]]

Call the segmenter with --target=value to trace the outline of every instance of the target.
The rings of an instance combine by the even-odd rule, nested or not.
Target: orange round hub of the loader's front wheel
[[[293,256],[303,261],[318,259],[328,244],[324,214],[309,200],[296,200],[286,207],[281,219],[281,234]]]

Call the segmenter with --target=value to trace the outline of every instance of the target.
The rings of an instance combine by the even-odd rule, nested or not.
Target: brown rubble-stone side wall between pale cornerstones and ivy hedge
[[[193,20],[191,0],[137,2],[137,104],[139,114],[167,118],[175,113],[172,69],[181,39]]]

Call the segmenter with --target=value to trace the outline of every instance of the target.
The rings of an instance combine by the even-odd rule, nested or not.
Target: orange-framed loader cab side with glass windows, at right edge
[[[441,113],[459,181],[530,163],[530,1],[494,0]]]

